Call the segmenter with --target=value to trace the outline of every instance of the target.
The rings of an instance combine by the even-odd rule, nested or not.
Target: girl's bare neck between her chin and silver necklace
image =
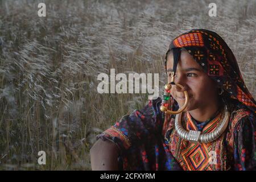
[[[221,106],[220,100],[217,100],[211,105],[202,106],[198,109],[188,111],[189,114],[196,119],[197,122],[202,123],[207,121],[207,119],[211,118]]]

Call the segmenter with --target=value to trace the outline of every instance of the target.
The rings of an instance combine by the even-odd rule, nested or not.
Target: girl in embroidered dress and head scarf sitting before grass
[[[254,170],[256,102],[224,40],[209,30],[185,32],[165,63],[172,85],[161,110],[177,111],[188,97],[182,114],[160,111],[158,98],[125,115],[97,136],[92,169]]]

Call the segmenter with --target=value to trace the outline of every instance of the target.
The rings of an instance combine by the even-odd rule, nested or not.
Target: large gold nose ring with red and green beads
[[[179,88],[183,89],[184,87],[180,84],[175,84],[176,86],[179,86]],[[185,90],[184,91],[184,95],[185,95],[185,104],[181,107],[180,110],[177,111],[172,111],[172,110],[168,110],[168,100],[170,99],[170,94],[171,94],[171,88],[172,85],[171,84],[166,84],[164,86],[165,90],[164,90],[164,97],[162,100],[162,106],[160,106],[160,110],[164,113],[167,114],[179,114],[181,113],[188,105],[188,92]]]

